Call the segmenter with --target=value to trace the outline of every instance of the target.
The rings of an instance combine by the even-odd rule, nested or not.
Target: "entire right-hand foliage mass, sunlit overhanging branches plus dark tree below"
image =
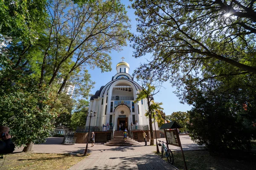
[[[248,149],[255,139],[256,8],[249,1],[134,0],[135,71],[177,86],[193,105],[192,139],[210,150]]]

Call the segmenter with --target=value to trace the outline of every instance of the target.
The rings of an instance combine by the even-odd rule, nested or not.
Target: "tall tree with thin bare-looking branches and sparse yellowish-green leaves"
[[[129,35],[128,17],[119,0],[95,0],[86,3],[55,0],[49,6],[51,16],[47,36],[38,45],[44,54],[39,87],[52,85],[56,77],[63,82],[61,93],[70,77],[81,68],[98,67],[111,70],[112,50],[126,45]]]

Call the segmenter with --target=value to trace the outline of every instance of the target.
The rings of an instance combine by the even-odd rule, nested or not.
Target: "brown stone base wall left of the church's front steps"
[[[107,142],[111,140],[111,132],[94,132],[95,134],[95,142]],[[87,136],[88,133],[75,133],[74,137],[76,137],[76,143],[87,143]],[[89,142],[90,143],[90,136],[92,133],[89,134]]]

